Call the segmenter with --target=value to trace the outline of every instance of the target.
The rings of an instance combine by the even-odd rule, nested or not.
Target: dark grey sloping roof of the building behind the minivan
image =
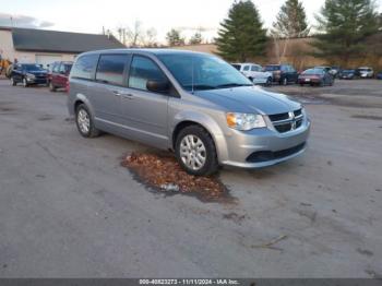
[[[124,48],[114,36],[34,28],[12,28],[12,38],[14,49],[24,51],[80,53]]]

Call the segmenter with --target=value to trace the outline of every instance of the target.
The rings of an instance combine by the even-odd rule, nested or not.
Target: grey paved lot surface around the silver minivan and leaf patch
[[[306,103],[309,148],[222,170],[220,204],[147,191],[120,160],[148,147],[83,139],[65,94],[1,80],[0,277],[382,277],[382,82],[271,91]]]

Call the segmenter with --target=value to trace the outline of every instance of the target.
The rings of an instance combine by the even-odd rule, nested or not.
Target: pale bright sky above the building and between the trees
[[[285,0],[253,0],[265,26],[270,27]],[[219,22],[227,15],[232,0],[2,0],[0,25],[13,15],[16,25],[31,23],[45,28],[100,33],[103,26],[115,29],[140,21],[144,28],[154,27],[163,40],[171,27],[189,35],[204,27],[205,37],[213,37]],[[324,0],[302,0],[308,17],[314,22]],[[382,11],[382,0],[377,0]],[[28,17],[26,17],[28,16]],[[5,19],[5,20],[4,20]],[[8,21],[9,22],[9,21]]]

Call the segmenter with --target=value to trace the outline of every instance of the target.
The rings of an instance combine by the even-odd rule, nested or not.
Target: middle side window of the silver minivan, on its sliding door
[[[122,85],[127,60],[127,55],[102,55],[98,62],[96,80]]]

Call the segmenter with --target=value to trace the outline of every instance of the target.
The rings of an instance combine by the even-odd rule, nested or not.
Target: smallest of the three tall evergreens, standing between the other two
[[[282,38],[299,38],[309,34],[307,14],[299,0],[287,0],[273,23],[272,34]]]

